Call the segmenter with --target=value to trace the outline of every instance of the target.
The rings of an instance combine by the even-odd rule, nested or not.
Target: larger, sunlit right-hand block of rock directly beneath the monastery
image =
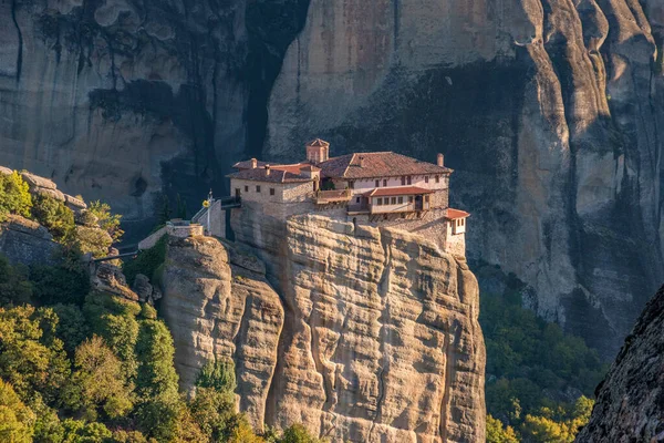
[[[433,241],[289,220],[268,418],[353,442],[484,442],[477,281]]]

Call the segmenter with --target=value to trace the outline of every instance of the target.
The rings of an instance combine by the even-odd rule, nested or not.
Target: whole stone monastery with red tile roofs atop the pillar
[[[469,214],[449,208],[453,169],[444,165],[443,154],[435,163],[394,152],[330,157],[330,144],[320,138],[308,143],[305,153],[305,159],[293,164],[257,158],[236,163],[228,178],[242,210],[283,219],[321,213],[355,224],[393,226],[465,256]]]

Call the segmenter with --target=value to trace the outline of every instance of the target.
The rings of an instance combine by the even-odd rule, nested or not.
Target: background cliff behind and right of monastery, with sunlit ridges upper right
[[[662,24],[653,0],[312,0],[266,153],[445,152],[470,256],[612,356],[664,277]]]

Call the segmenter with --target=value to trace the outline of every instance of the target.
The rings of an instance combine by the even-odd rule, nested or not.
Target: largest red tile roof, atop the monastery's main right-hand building
[[[448,167],[422,162],[393,152],[357,153],[319,163],[321,174],[330,178],[397,177],[402,175],[450,174]]]

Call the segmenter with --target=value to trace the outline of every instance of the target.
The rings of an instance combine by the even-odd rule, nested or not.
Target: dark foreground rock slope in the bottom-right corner
[[[664,287],[625,339],[580,443],[664,441]]]

